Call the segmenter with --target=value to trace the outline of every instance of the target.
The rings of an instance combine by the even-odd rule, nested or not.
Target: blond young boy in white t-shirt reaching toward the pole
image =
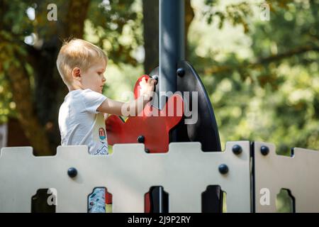
[[[141,95],[135,101],[123,103],[103,96],[107,62],[103,50],[85,40],[72,39],[62,45],[57,69],[69,93],[59,111],[61,145],[87,145],[91,155],[108,155],[103,114],[123,116],[125,109],[137,116],[138,104],[144,107],[150,101],[155,79],[142,80]],[[89,212],[106,212],[105,193],[104,188],[94,189],[89,196]]]

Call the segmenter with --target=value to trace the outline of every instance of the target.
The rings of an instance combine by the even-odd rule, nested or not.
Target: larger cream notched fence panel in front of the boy
[[[240,145],[242,153],[233,153]],[[201,212],[208,185],[227,193],[228,212],[250,212],[250,143],[228,142],[225,152],[206,152],[200,143],[170,143],[168,153],[145,153],[142,144],[113,146],[111,155],[89,155],[86,146],[60,146],[57,155],[35,157],[30,147],[3,148],[0,155],[0,212],[30,212],[38,189],[57,191],[57,212],[86,212],[94,187],[113,194],[113,212],[144,212],[145,193],[162,186],[169,212]],[[228,173],[218,171],[228,166]],[[77,169],[69,177],[69,167]]]

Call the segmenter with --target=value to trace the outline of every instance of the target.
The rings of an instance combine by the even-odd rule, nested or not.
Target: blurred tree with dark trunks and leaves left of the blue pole
[[[52,155],[60,144],[57,116],[67,87],[55,60],[63,40],[84,38],[106,50],[113,64],[133,67],[141,65],[134,51],[144,45],[145,71],[158,64],[158,0],[143,1],[142,10],[134,0],[56,0],[57,21],[47,19],[49,4],[0,1],[0,121],[18,118],[38,155]],[[186,7],[188,27],[189,0]]]

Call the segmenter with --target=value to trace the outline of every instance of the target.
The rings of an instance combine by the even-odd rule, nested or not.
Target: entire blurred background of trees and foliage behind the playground
[[[207,89],[223,149],[228,140],[261,140],[281,155],[319,150],[319,1],[185,2],[186,60]],[[0,147],[31,145],[35,155],[52,155],[60,145],[67,87],[55,60],[66,38],[105,50],[103,94],[125,101],[123,92],[159,65],[158,6],[0,0]]]

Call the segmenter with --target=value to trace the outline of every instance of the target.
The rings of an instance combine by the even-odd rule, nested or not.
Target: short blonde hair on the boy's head
[[[104,60],[106,64],[108,62],[108,57],[101,48],[86,40],[74,38],[63,43],[57,55],[57,70],[59,70],[63,82],[69,86],[72,84],[74,67],[79,67],[85,72],[99,60]]]

